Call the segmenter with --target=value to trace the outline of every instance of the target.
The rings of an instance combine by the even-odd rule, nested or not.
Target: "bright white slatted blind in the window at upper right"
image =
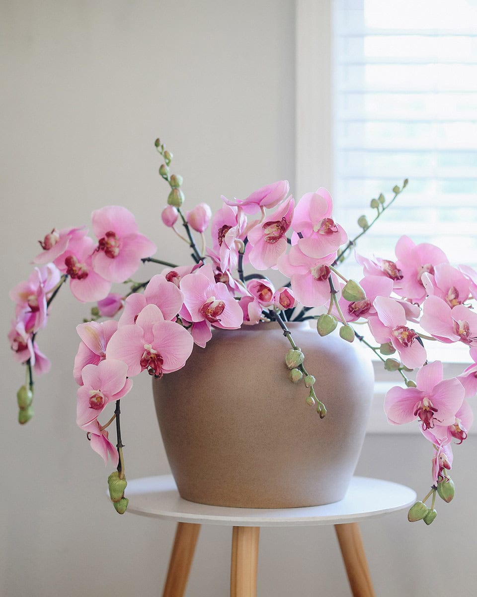
[[[360,253],[390,258],[405,233],[476,267],[477,0],[332,6],[336,219],[354,236],[408,178]]]

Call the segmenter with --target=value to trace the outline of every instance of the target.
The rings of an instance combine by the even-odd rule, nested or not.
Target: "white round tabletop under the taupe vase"
[[[333,504],[304,508],[252,509],[207,506],[183,500],[172,475],[128,481],[128,512],[175,522],[235,527],[295,527],[356,522],[402,510],[416,492],[381,479],[353,477],[345,497]]]

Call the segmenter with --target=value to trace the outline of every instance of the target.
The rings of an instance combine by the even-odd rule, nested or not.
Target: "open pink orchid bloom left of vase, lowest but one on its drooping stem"
[[[76,405],[79,427],[96,420],[109,402],[123,398],[131,390],[132,380],[126,378],[127,371],[126,363],[113,359],[83,368],[83,385],[78,388]]]

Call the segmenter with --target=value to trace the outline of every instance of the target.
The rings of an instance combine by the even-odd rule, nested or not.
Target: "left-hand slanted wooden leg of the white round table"
[[[200,524],[178,522],[162,597],[182,597],[199,537]]]

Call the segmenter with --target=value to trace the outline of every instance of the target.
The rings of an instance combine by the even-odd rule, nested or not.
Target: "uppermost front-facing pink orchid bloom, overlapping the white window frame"
[[[308,257],[321,259],[337,251],[348,241],[345,230],[332,219],[333,201],[323,188],[316,193],[306,193],[295,207],[292,244]],[[303,238],[299,238],[299,234]]]

